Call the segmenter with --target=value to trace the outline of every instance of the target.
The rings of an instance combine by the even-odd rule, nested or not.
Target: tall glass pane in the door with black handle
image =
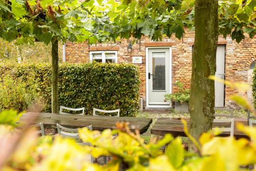
[[[165,52],[152,55],[153,90],[165,90]]]

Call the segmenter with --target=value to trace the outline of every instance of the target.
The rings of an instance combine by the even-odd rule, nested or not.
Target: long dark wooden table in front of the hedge
[[[35,117],[32,124],[42,122],[45,128],[56,128],[56,124],[65,127],[84,127],[93,126],[93,130],[103,131],[105,129],[115,129],[116,123],[121,121],[129,122],[131,131],[138,129],[140,134],[147,131],[152,123],[151,118],[137,117],[116,117],[116,116],[92,116],[92,115],[74,115],[74,114],[51,114],[51,113],[25,113],[21,120],[28,117]]]

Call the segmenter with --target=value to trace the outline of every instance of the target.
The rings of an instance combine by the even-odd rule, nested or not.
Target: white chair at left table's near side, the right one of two
[[[93,130],[93,126],[89,125],[86,126],[90,131]],[[80,140],[79,134],[78,134],[78,129],[69,129],[67,127],[61,126],[60,124],[57,123],[57,130],[58,134],[62,137],[68,137],[68,138],[73,138],[75,140]],[[89,142],[77,142],[79,145],[88,145],[91,146]],[[93,163],[93,157],[90,155],[90,162]]]

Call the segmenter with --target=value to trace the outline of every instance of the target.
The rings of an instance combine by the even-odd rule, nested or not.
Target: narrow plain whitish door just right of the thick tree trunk
[[[215,76],[225,79],[225,45],[217,47]],[[218,81],[215,81],[215,107],[224,107],[224,84]]]

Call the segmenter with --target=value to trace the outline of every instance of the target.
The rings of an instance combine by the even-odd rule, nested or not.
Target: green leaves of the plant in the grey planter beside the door
[[[178,101],[180,103],[188,102],[190,96],[189,89],[185,89],[183,83],[180,81],[177,81],[175,84],[178,91],[172,94],[164,95],[165,99],[169,101]]]

